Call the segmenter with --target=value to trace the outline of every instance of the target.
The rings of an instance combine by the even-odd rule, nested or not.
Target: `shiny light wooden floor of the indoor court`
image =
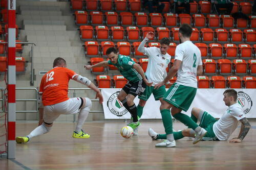
[[[16,159],[0,159],[0,169],[256,169],[256,122],[242,143],[176,141],[176,148],[155,148],[148,128],[163,132],[161,122],[142,122],[138,136],[124,139],[124,123],[86,123],[89,139],[74,139],[73,123],[54,123],[45,135],[16,144]],[[25,136],[35,123],[17,123],[16,135]],[[174,129],[184,129],[174,123]],[[231,137],[236,137],[240,128]]]

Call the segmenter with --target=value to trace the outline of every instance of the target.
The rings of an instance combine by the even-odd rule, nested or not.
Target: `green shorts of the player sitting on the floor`
[[[199,124],[200,127],[204,128],[207,133],[202,140],[219,140],[214,134],[213,126],[218,120],[212,117],[208,112],[204,112]]]

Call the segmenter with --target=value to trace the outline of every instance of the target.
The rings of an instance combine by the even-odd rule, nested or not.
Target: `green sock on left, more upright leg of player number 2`
[[[172,134],[173,133],[173,119],[170,115],[169,109],[163,109],[160,110],[163,120],[163,126],[166,134]]]

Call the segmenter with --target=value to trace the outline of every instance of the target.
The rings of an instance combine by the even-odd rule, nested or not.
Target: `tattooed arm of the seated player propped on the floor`
[[[237,138],[233,138],[229,140],[229,142],[241,142],[251,128],[251,125],[246,117],[240,119],[239,121],[242,123],[240,133]]]

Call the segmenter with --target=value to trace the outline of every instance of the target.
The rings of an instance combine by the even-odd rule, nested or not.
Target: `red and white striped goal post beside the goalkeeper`
[[[8,0],[8,159],[15,159],[15,123],[16,123],[16,0]]]

